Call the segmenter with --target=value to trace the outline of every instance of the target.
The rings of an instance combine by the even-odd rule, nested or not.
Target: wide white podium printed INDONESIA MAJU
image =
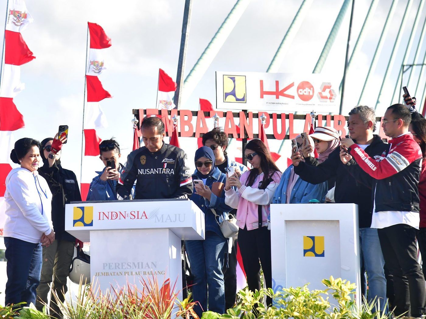
[[[90,272],[101,291],[170,278],[182,291],[181,239],[204,239],[204,213],[188,199],[72,202],[65,230],[90,242]],[[181,296],[179,296],[181,298]]]

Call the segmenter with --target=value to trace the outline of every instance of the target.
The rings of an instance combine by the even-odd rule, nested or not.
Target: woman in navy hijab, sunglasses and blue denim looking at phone
[[[203,146],[195,152],[196,171],[192,177],[194,194],[190,199],[204,212],[205,239],[186,240],[185,249],[194,277],[191,290],[197,302],[195,311],[201,318],[204,311],[225,312],[225,285],[222,268],[227,252],[227,238],[222,235],[218,222],[227,219],[231,208],[225,204],[224,186],[226,175],[215,166],[215,156],[211,148]],[[213,194],[219,186],[219,196]],[[216,191],[215,191],[216,192]],[[217,194],[218,192],[216,192]],[[212,209],[219,216],[215,218]],[[208,309],[207,309],[208,304]]]

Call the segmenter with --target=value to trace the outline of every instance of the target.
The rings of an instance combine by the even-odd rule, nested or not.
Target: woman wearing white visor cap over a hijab
[[[318,158],[312,156],[314,148],[312,145],[302,146],[302,154],[305,159],[305,163],[312,166],[324,162],[328,155],[331,154],[336,148],[340,147],[340,135],[334,128],[330,126],[318,126],[315,128],[314,133],[309,135],[314,140],[314,147],[317,151]],[[328,179],[328,190],[334,187],[336,184],[336,177]]]

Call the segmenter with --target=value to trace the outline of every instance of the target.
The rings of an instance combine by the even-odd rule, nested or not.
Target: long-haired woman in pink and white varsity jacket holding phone
[[[253,166],[241,175],[228,177],[225,203],[237,208],[238,244],[247,275],[248,288],[260,290],[260,264],[265,285],[272,288],[271,231],[268,230],[269,205],[282,173],[261,140],[251,140],[245,148],[245,159]],[[235,187],[237,191],[234,190]],[[260,264],[259,264],[260,260]],[[266,299],[267,305],[271,299]]]

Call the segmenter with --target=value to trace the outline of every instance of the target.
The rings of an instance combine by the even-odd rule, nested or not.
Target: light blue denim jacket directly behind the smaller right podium
[[[290,165],[284,173],[282,173],[281,181],[272,199],[273,204],[285,204],[288,179],[290,179],[292,167],[293,165]],[[291,191],[289,204],[306,204],[311,199],[318,199],[320,202],[324,202],[325,194],[327,194],[327,182],[314,185],[305,182],[299,177]]]

